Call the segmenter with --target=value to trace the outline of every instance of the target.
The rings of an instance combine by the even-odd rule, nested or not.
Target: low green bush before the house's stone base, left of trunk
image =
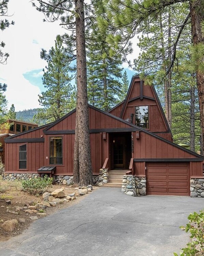
[[[32,178],[30,180],[22,181],[23,190],[35,195],[43,193],[47,188],[51,187],[53,183],[53,178],[49,178],[45,175],[43,178]]]

